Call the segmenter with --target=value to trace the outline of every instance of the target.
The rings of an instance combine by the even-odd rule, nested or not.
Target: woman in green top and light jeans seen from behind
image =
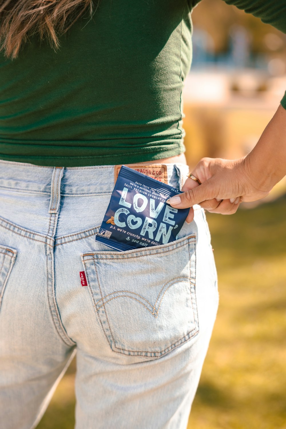
[[[226,3],[286,30],[282,0]],[[3,429],[36,427],[75,352],[77,429],[187,426],[218,305],[204,211],[195,205],[178,240],[154,248],[111,251],[94,237],[118,165],[187,190],[181,206],[222,213],[283,174],[281,106],[253,155],[202,160],[187,178],[182,88],[195,6],[0,2]]]

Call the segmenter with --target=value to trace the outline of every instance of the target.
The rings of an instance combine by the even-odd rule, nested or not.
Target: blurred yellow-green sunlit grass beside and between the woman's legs
[[[188,429],[286,429],[285,214],[285,196],[207,213],[220,306]],[[38,429],[73,429],[74,373],[75,360]]]

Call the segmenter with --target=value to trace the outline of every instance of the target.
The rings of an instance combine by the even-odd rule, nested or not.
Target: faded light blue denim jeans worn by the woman
[[[76,429],[187,426],[218,305],[205,213],[113,251],[94,239],[113,187],[114,166],[0,160],[1,429],[36,427],[76,352]]]

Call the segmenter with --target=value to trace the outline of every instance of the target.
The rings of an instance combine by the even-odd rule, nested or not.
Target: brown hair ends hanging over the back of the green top
[[[38,33],[56,50],[58,33],[65,33],[93,0],[0,0],[0,51],[16,58],[21,45]]]

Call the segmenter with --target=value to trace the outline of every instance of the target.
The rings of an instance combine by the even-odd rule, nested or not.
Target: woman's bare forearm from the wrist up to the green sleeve
[[[279,105],[253,150],[245,157],[253,185],[270,191],[286,175],[286,110]]]

